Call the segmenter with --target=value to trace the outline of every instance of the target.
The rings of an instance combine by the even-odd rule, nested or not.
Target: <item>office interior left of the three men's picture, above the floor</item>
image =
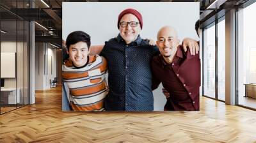
[[[40,10],[44,4],[0,2],[0,114],[34,104],[35,91],[50,89],[61,75],[61,2],[56,3],[60,17],[51,9]],[[47,13],[54,13],[59,23]]]

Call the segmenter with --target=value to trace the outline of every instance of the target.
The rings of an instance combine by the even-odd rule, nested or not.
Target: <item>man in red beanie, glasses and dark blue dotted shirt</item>
[[[118,15],[117,27],[118,36],[106,41],[100,53],[108,61],[109,93],[104,101],[105,109],[152,111],[154,98],[150,61],[159,54],[159,50],[141,39],[143,19],[139,11],[132,8],[122,11]],[[187,38],[183,43],[185,50],[187,46],[194,52],[195,47],[198,49],[195,40]]]

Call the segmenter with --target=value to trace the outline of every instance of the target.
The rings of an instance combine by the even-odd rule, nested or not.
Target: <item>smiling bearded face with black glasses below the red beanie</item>
[[[125,40],[125,43],[129,44],[132,41],[135,41],[138,38],[138,35],[140,34],[141,27],[140,27],[140,22],[132,14],[126,14],[122,17],[120,20],[121,22],[138,22],[139,24],[136,27],[131,27],[130,24],[127,25],[127,27],[119,27],[120,35],[122,38]]]

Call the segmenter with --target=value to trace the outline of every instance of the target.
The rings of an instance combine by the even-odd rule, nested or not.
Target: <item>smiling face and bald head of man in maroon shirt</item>
[[[177,51],[177,32],[170,26],[162,27],[157,34],[157,47],[164,57],[172,57]]]

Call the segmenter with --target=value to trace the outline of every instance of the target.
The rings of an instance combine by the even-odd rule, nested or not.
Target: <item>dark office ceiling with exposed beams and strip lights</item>
[[[62,2],[68,0],[26,0],[26,1],[13,1],[13,0],[1,0],[0,1],[0,17],[4,21],[1,29],[13,32],[12,29],[16,28],[13,20],[35,20],[38,24],[35,24],[36,28],[36,41],[60,41],[61,45],[61,25],[62,25]],[[69,0],[68,2],[75,1]],[[79,2],[92,2],[97,0],[80,0]],[[107,2],[104,0],[98,0],[99,2]],[[115,1],[115,0],[112,0]],[[136,0],[134,0],[136,1]],[[150,2],[157,2],[154,0],[147,0]],[[166,1],[166,0],[161,0]],[[167,0],[168,1],[168,0]],[[172,2],[200,2],[200,23],[207,23],[207,20],[211,19],[217,12],[228,10],[234,6],[239,6],[248,0],[169,0]],[[76,1],[77,2],[77,1]],[[33,8],[32,8],[33,7]],[[221,15],[220,15],[221,16]],[[211,21],[209,21],[211,22]],[[44,27],[42,27],[44,26]],[[22,28],[18,29],[19,30]]]

